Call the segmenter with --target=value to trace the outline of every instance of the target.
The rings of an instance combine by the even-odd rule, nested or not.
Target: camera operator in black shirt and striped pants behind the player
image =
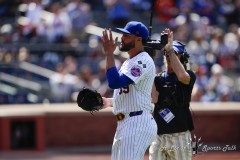
[[[155,77],[152,101],[158,136],[149,149],[150,160],[191,160],[191,131],[194,129],[189,109],[195,74],[188,70],[189,54],[185,45],[173,41],[170,29],[164,47],[166,71]]]

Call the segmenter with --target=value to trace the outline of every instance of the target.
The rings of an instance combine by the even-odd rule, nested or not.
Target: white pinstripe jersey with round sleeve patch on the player
[[[119,72],[128,76],[134,83],[114,90],[114,114],[140,110],[152,112],[151,92],[156,68],[149,54],[141,52],[133,58],[128,58]]]

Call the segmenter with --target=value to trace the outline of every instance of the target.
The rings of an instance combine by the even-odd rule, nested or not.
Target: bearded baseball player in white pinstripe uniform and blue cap
[[[103,50],[106,56],[106,76],[113,98],[104,98],[104,107],[112,106],[118,120],[112,145],[112,160],[143,160],[144,154],[157,135],[157,125],[152,117],[151,90],[156,73],[153,59],[143,50],[148,39],[147,27],[137,21],[117,28],[122,35],[120,51],[129,58],[118,70],[113,52],[117,37],[111,29],[104,30]]]

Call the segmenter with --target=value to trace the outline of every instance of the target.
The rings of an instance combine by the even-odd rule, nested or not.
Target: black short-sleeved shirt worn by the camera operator
[[[175,73],[168,74],[164,71],[155,77],[154,83],[159,92],[158,102],[154,108],[158,134],[171,134],[194,129],[189,106],[196,75],[191,70],[187,70],[187,72],[191,77],[188,85],[178,81]],[[159,114],[165,108],[168,108],[175,116],[169,123],[165,122]]]

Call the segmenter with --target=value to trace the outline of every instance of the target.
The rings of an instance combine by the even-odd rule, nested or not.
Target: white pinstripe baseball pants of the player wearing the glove
[[[112,145],[112,160],[143,160],[157,136],[157,124],[148,112],[118,121]]]

